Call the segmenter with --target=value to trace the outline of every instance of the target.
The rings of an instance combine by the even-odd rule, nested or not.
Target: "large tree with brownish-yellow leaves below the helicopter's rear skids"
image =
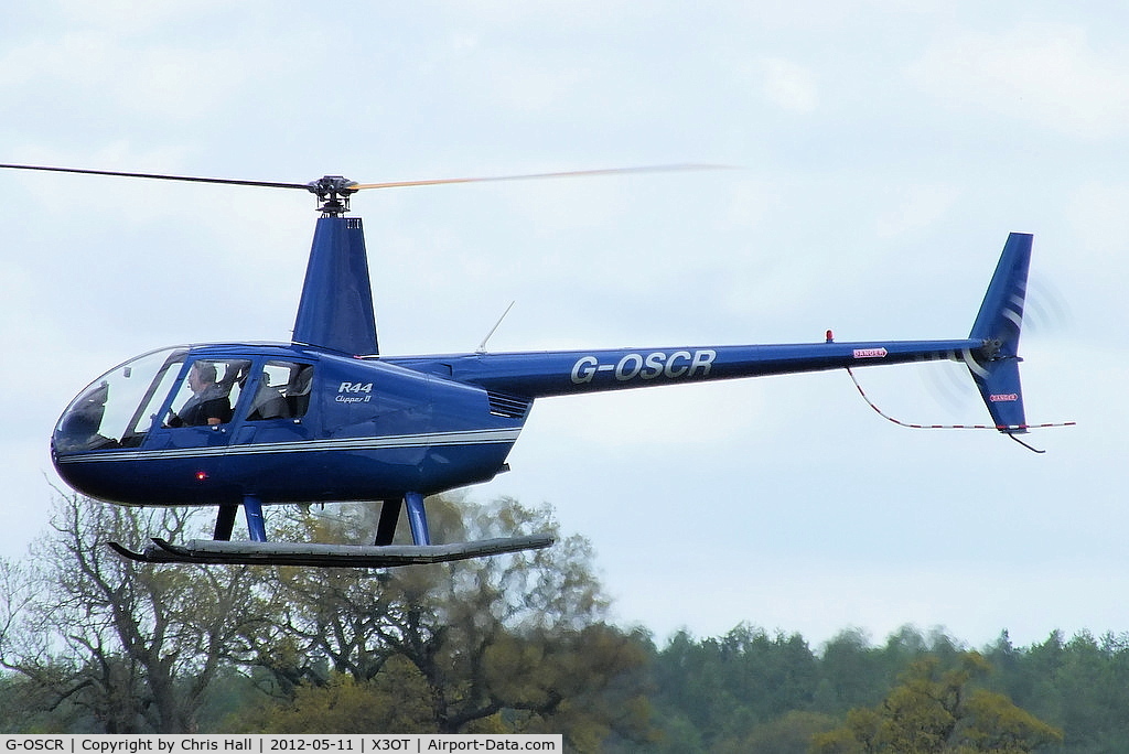
[[[375,528],[360,510],[352,517],[307,511],[288,535],[359,541]],[[432,498],[428,515],[445,541],[558,533],[548,509],[510,499],[479,506]],[[644,641],[605,622],[607,599],[583,537],[558,536],[536,552],[376,573],[277,572],[281,613],[255,661],[272,670],[290,700],[271,725],[298,729],[326,695],[368,694],[385,704],[396,689],[411,689],[428,710],[415,730],[563,730],[579,751],[597,751],[609,736],[646,737]],[[388,684],[393,674],[410,683]]]

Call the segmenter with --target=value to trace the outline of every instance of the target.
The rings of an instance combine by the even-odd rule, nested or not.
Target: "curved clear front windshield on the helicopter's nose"
[[[184,348],[151,351],[94,380],[59,419],[55,449],[73,453],[140,445],[186,353]]]

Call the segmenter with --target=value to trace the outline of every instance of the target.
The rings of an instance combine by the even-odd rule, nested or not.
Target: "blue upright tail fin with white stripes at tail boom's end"
[[[1027,290],[1027,268],[1031,263],[1031,234],[1013,233],[1007,237],[980,313],[969,335],[980,340],[980,349],[964,354],[972,378],[996,429],[1008,435],[1027,431],[1019,385],[1019,331],[1023,325],[1023,303]]]

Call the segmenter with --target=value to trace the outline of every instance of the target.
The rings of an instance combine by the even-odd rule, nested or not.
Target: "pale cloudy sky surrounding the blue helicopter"
[[[837,0],[134,3],[0,28],[0,163],[368,183],[382,351],[966,336],[1034,234],[1029,436],[910,430],[842,371],[539,401],[476,500],[549,503],[624,625],[979,647],[1129,631],[1119,431],[1129,9]],[[0,174],[0,555],[47,526],[67,403],[154,348],[288,341],[313,198]],[[1119,304],[1119,301],[1121,301]],[[960,365],[858,372],[909,422],[987,420]]]

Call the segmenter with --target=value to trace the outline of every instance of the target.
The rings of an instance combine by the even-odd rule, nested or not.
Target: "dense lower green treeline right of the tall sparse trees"
[[[650,751],[1129,752],[1127,633],[1056,631],[1017,648],[1004,632],[974,651],[907,626],[879,645],[844,631],[813,649],[743,624],[676,634],[649,673],[663,733]],[[933,740],[891,739],[899,724]]]

